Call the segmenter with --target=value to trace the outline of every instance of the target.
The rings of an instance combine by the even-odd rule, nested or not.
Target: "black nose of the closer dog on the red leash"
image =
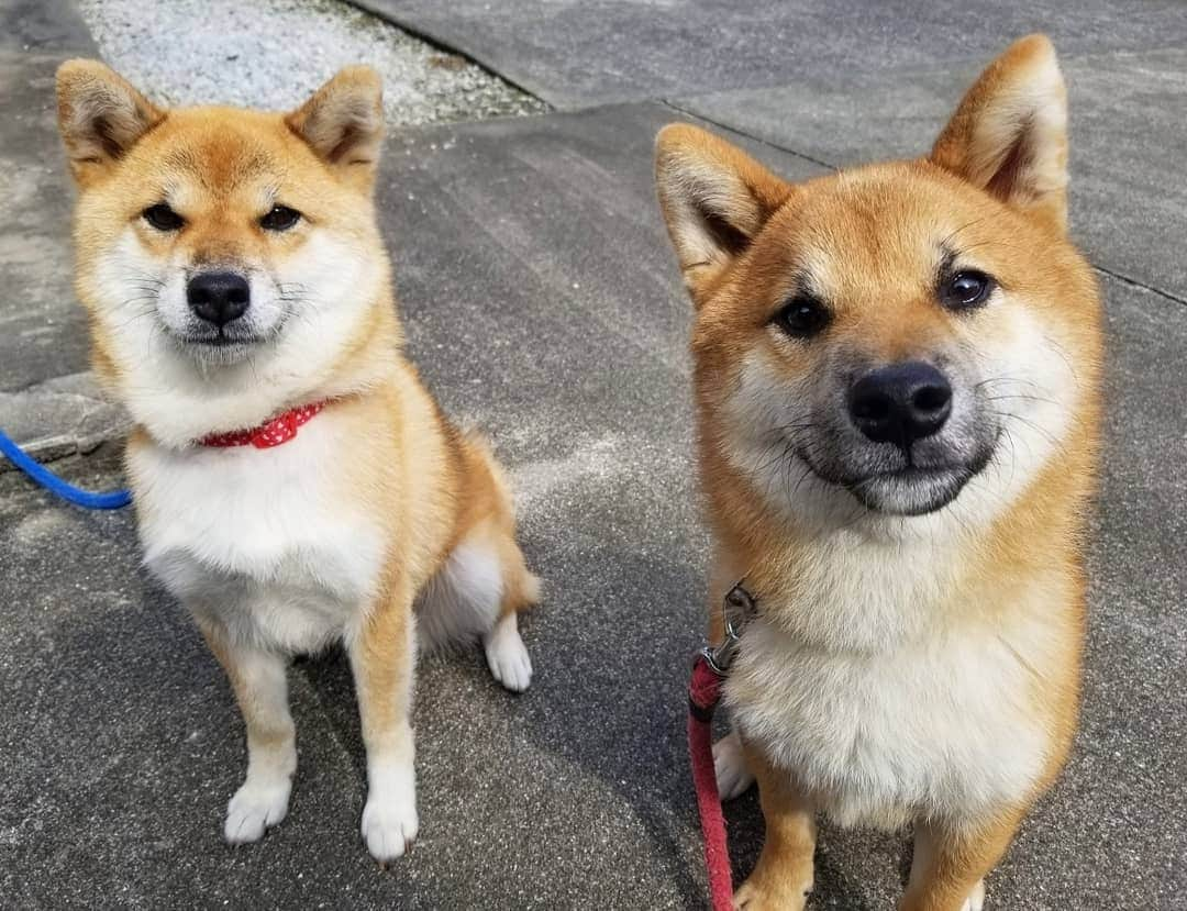
[[[952,386],[922,361],[871,370],[849,390],[849,414],[875,442],[903,450],[938,432],[952,412]]]

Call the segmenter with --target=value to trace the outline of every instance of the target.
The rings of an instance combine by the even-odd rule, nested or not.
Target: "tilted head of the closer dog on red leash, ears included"
[[[929,514],[975,479],[988,511],[1008,499],[1058,447],[1077,359],[1096,357],[1093,280],[1065,238],[1065,122],[1035,39],[920,161],[789,185],[699,129],[665,130],[703,445],[800,516]]]

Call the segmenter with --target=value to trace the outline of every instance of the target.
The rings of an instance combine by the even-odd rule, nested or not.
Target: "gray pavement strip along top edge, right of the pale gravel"
[[[560,108],[979,63],[1046,31],[1065,53],[1181,46],[1179,0],[353,0]]]

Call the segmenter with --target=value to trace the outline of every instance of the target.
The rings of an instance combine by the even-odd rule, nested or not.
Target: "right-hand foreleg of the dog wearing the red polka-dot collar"
[[[367,805],[362,834],[381,862],[404,854],[417,837],[417,779],[410,712],[415,646],[412,595],[377,604],[348,642],[363,745]]]

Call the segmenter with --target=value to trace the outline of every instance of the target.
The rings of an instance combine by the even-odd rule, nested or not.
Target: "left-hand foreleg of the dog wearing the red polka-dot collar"
[[[259,841],[288,813],[297,771],[287,662],[283,655],[233,642],[217,620],[198,617],[198,626],[227,671],[247,728],[247,777],[227,804],[223,834],[231,845]]]

